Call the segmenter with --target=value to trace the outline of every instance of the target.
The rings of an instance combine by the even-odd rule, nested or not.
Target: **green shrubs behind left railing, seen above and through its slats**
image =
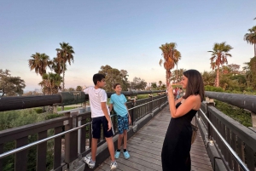
[[[47,119],[52,119],[55,117],[61,117],[63,115],[44,113],[38,115],[37,109],[24,109],[24,110],[15,110],[15,111],[2,111],[0,112],[0,130],[8,128],[16,128],[30,123],[37,123]],[[53,130],[48,131],[48,136],[53,135]],[[28,136],[29,143],[38,140],[38,134],[32,134]],[[10,141],[3,145],[3,151],[10,151],[15,149],[15,141]],[[53,140],[47,142],[47,170],[52,169],[53,167]],[[28,150],[28,162],[27,169],[28,171],[36,170],[36,159],[37,159],[37,146],[33,146]],[[3,171],[12,171],[15,169],[14,165],[15,155],[10,155],[3,158]]]

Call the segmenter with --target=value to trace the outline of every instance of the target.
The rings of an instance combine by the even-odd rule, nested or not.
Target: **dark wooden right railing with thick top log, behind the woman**
[[[244,94],[224,94],[216,92],[207,92],[209,98],[220,100],[230,105],[236,105],[245,110],[255,113],[256,110],[256,96]],[[234,119],[227,117],[223,112],[218,111],[214,107],[212,100],[201,104],[201,111],[198,116],[207,128],[205,134],[207,145],[215,145],[219,157],[213,158],[212,163],[221,159],[227,170],[246,170],[241,167],[229,148],[224,144],[224,141],[218,136],[216,131],[208,123],[207,118],[203,113],[206,113],[207,118],[212,125],[222,135],[224,140],[230,145],[233,151],[236,151],[237,156],[244,162],[250,171],[256,170],[256,132],[251,128],[247,128]],[[252,121],[253,122],[253,121]],[[211,158],[211,157],[210,157]],[[214,166],[213,166],[214,168]]]

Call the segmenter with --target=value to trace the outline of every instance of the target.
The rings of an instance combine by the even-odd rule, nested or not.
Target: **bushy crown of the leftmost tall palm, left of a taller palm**
[[[50,66],[51,61],[49,60],[49,56],[47,54],[32,54],[31,60],[28,60],[28,66],[30,70],[35,70],[35,72],[40,74],[41,76],[46,73],[46,67]]]

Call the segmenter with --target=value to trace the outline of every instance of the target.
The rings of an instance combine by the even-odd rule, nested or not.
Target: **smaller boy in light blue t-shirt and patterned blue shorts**
[[[118,140],[118,150],[115,151],[114,157],[119,158],[120,148],[122,140],[124,138],[124,157],[128,159],[130,157],[129,152],[127,151],[127,130],[129,129],[129,124],[131,124],[131,117],[128,111],[128,108],[125,104],[127,101],[124,94],[121,94],[122,88],[119,83],[113,85],[113,90],[115,94],[112,94],[110,97],[109,111],[114,111],[118,115],[118,128],[119,128],[119,140]]]

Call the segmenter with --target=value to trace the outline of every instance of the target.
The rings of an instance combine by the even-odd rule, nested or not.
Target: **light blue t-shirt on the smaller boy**
[[[112,94],[110,96],[110,104],[113,104],[113,110],[121,117],[125,117],[128,111],[125,106],[126,98],[124,94]]]

